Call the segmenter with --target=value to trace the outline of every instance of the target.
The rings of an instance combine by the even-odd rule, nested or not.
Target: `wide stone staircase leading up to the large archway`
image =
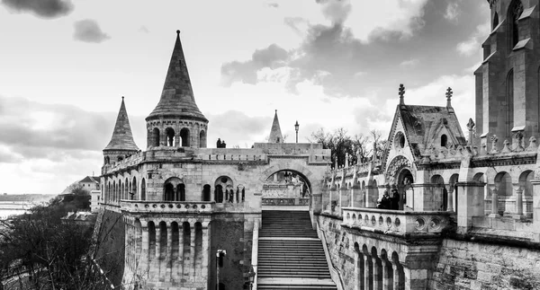
[[[263,211],[257,271],[259,290],[338,289],[307,211]]]

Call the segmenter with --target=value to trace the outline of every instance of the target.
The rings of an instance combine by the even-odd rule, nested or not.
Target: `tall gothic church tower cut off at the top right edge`
[[[538,0],[488,0],[491,33],[476,70],[476,132],[482,143],[496,135],[539,136],[540,44]]]

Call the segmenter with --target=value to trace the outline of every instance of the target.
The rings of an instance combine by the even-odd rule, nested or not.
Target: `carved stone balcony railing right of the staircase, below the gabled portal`
[[[343,208],[343,225],[394,235],[438,235],[450,224],[450,212],[404,212],[378,208]]]

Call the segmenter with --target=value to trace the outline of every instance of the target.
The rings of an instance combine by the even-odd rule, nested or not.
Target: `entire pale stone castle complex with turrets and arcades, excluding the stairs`
[[[277,113],[268,143],[207,148],[178,34],[146,149],[123,100],[103,149],[98,227],[120,218],[122,283],[242,289],[263,262],[263,209],[288,206],[309,208],[338,289],[540,288],[540,8],[489,3],[467,130],[451,88],[422,106],[401,85],[382,157],[332,167],[320,144],[283,143]]]

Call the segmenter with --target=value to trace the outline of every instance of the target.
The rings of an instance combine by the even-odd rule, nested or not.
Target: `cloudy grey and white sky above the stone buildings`
[[[209,145],[320,127],[388,134],[398,102],[473,117],[490,31],[471,0],[0,0],[0,193],[59,193],[98,175],[121,96],[135,141],[180,36]]]

